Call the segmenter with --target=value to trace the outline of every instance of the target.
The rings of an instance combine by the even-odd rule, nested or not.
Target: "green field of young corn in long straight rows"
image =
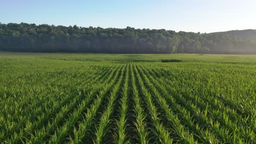
[[[255,55],[0,53],[2,143],[256,143]]]

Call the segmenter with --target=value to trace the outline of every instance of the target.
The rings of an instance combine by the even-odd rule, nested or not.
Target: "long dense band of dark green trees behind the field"
[[[0,51],[256,53],[256,39],[224,33],[0,23]]]

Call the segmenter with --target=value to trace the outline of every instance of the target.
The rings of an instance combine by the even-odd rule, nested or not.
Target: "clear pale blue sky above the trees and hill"
[[[256,0],[0,0],[0,22],[202,33],[256,29]]]

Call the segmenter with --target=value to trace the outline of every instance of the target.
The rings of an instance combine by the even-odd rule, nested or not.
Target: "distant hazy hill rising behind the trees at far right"
[[[227,31],[227,32],[216,32],[216,33],[235,35],[236,37],[244,40],[256,39],[256,29],[234,30],[234,31]],[[216,33],[213,33],[213,34],[216,34]]]

